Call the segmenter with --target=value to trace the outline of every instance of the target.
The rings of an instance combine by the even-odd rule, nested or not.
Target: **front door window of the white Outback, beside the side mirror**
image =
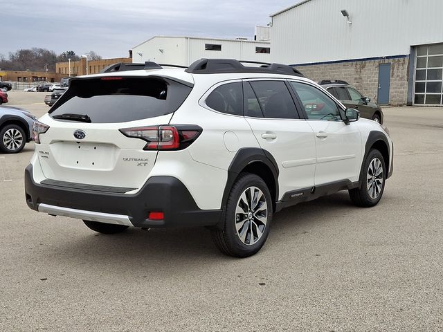
[[[337,104],[322,91],[308,84],[291,82],[309,120],[341,120]]]

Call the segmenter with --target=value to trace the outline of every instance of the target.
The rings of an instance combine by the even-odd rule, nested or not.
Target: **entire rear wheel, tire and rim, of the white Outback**
[[[249,257],[258,252],[271,229],[272,203],[262,178],[240,174],[230,190],[221,229],[211,230],[217,248],[233,257]]]

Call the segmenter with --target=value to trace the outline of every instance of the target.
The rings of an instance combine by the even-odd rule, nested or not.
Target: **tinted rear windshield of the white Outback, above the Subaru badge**
[[[93,123],[154,118],[180,107],[192,87],[163,77],[95,77],[72,80],[49,112],[87,115]]]

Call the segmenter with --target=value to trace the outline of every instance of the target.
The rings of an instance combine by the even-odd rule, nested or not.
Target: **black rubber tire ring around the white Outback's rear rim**
[[[266,204],[268,206],[268,217],[266,221],[266,228],[264,228],[264,232],[262,234],[262,237],[257,241],[257,243],[254,243],[252,246],[248,246],[239,239],[237,235],[237,230],[235,229],[235,210],[237,208],[237,202],[239,200],[239,197],[242,195],[244,190],[246,190],[248,187],[257,187],[260,190],[262,190],[265,198],[266,198]],[[247,174],[246,176],[243,176],[242,178],[239,178],[239,181],[235,183],[233,186],[233,189],[231,190],[228,198],[228,205],[226,207],[226,216],[225,216],[225,227],[224,232],[226,235],[228,235],[228,241],[230,242],[231,246],[235,248],[237,253],[240,253],[239,256],[250,256],[253,255],[253,253],[257,252],[262,248],[264,245],[264,242],[266,242],[266,239],[269,235],[269,231],[271,229],[271,221],[272,221],[272,215],[273,215],[273,206],[272,206],[272,199],[271,194],[269,193],[269,189],[266,186],[266,183],[260,178],[259,176],[256,176],[255,174]]]

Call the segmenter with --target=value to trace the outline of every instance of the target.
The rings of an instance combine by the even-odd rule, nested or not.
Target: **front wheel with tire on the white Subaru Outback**
[[[349,190],[352,203],[362,208],[371,208],[377,205],[383,196],[385,183],[385,160],[379,150],[371,149],[363,165],[360,187]]]

